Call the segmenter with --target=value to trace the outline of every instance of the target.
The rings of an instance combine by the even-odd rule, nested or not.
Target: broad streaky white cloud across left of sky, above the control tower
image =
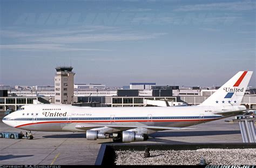
[[[16,44],[3,44],[4,40],[2,40],[0,49],[18,51],[112,51],[105,48],[81,48],[80,46],[92,42],[146,40],[166,34],[129,31],[108,26],[81,26],[76,29],[34,30],[30,32],[1,30],[2,37],[8,39],[9,43],[12,40]],[[79,47],[76,47],[78,45]]]

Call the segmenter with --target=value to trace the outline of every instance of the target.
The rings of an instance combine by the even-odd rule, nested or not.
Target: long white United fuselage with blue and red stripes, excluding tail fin
[[[24,108],[24,109],[23,109]],[[31,104],[3,118],[3,122],[16,128],[32,131],[73,131],[78,123],[115,124],[157,127],[188,127],[218,120],[215,115],[223,109],[235,111],[244,106],[192,106],[192,107],[102,107],[86,108],[56,104]]]

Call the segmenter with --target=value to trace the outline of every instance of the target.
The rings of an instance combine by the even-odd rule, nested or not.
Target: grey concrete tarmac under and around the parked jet
[[[193,125],[195,130],[161,131],[144,142],[132,143],[241,143],[238,123],[227,123],[234,117]],[[0,131],[20,132],[0,121]],[[85,133],[32,131],[34,139],[0,139],[0,165],[94,165],[100,145],[112,139],[88,141]]]

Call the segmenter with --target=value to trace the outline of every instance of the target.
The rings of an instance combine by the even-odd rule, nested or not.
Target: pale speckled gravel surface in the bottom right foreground
[[[204,158],[210,165],[256,165],[256,149],[152,150],[150,158],[144,151],[115,151],[116,165],[198,165]]]

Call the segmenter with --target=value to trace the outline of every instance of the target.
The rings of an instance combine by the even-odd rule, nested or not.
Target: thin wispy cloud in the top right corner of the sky
[[[184,5],[180,8],[174,9],[174,11],[187,12],[187,11],[208,11],[208,10],[234,10],[244,11],[255,9],[255,3],[253,2],[221,2],[221,3],[209,3],[209,4],[196,4],[196,5]]]

